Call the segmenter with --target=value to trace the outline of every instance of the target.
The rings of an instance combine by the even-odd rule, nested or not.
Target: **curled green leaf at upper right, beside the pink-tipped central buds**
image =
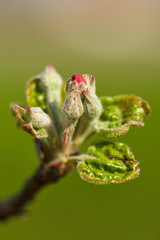
[[[126,134],[130,126],[143,126],[143,118],[150,113],[148,103],[134,95],[102,97],[103,112],[95,125],[95,131],[107,138]]]

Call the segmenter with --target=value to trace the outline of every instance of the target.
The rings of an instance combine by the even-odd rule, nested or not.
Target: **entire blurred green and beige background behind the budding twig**
[[[135,94],[152,108],[145,127],[121,139],[140,162],[138,179],[95,186],[75,169],[37,196],[27,220],[0,223],[0,239],[159,239],[159,7],[156,0],[0,0],[0,198],[21,188],[39,164],[9,104],[25,103],[26,81],[46,64],[66,80],[93,74],[99,96]]]

